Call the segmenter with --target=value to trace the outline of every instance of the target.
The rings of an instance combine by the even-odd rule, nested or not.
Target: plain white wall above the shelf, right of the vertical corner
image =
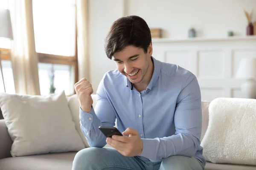
[[[244,9],[254,8],[256,0],[128,0],[128,14],[143,17],[149,27],[164,29],[164,37],[186,38],[190,26],[199,37],[227,37],[227,31],[245,35]]]

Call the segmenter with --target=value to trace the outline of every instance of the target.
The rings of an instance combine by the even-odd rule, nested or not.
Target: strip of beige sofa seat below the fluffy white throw
[[[205,170],[256,170],[256,166],[206,163]]]

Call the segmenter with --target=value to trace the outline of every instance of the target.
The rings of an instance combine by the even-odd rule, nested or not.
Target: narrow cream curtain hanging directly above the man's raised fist
[[[88,48],[88,0],[76,0],[79,79],[90,80]]]

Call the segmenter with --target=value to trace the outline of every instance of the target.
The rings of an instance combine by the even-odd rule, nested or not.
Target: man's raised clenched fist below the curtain
[[[85,112],[90,112],[93,105],[93,99],[91,96],[91,94],[93,94],[92,85],[87,79],[82,78],[74,85],[74,88],[78,96],[81,109]]]

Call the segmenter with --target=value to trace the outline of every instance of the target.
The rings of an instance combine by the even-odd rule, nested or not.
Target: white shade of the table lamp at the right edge
[[[256,79],[256,58],[241,58],[236,78]]]

